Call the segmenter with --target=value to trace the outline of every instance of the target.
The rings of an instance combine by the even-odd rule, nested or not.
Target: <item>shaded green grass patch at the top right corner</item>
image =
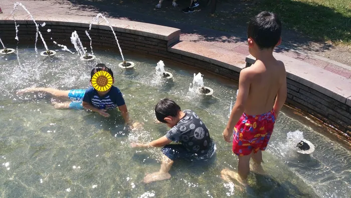
[[[261,11],[279,15],[283,28],[316,41],[351,46],[351,0],[261,0],[247,7],[254,16]]]

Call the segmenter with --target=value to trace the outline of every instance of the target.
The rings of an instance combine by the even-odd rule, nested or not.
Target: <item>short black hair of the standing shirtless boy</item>
[[[252,18],[247,28],[247,37],[262,49],[274,48],[281,36],[281,22],[278,16],[267,11]]]

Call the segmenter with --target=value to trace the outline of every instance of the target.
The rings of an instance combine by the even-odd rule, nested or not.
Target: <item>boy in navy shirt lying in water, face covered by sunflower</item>
[[[92,83],[94,74],[99,71],[106,71],[112,78],[112,84],[114,83],[112,70],[106,67],[105,64],[100,63],[97,64],[95,68],[93,68],[90,72],[90,84]],[[73,100],[71,102],[64,103],[57,103],[55,101],[52,101],[55,109],[87,109],[93,112],[97,112],[101,116],[109,117],[110,114],[108,114],[106,111],[118,107],[125,124],[130,124],[129,114],[127,106],[124,102],[123,95],[121,91],[113,85],[111,85],[105,91],[98,91],[94,87],[72,90],[59,90],[47,87],[30,87],[19,90],[17,94],[23,94],[27,92],[45,92],[51,94],[54,97],[62,98],[63,100]]]

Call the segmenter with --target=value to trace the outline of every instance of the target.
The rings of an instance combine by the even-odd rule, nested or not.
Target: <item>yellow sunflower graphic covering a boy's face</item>
[[[97,71],[91,78],[91,84],[97,91],[107,91],[112,86],[112,76],[107,71]]]

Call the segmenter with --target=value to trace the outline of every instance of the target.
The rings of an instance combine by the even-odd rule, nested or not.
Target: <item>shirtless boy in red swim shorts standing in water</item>
[[[233,152],[239,157],[238,173],[224,169],[221,173],[225,179],[229,176],[247,184],[250,158],[253,168],[263,171],[262,151],[287,94],[284,63],[273,57],[274,47],[281,43],[280,35],[281,22],[273,13],[262,12],[249,23],[249,51],[256,62],[240,72],[237,101],[223,131],[224,140],[230,142],[234,129]]]

